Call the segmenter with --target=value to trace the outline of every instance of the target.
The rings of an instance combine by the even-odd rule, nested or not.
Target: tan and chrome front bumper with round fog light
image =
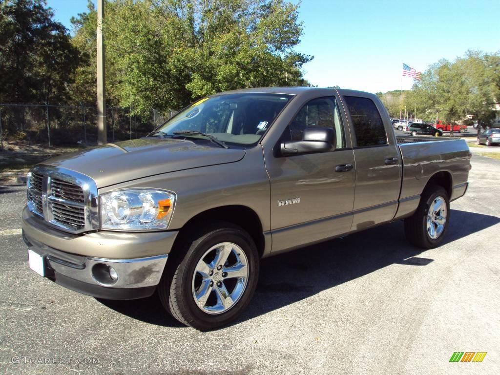
[[[42,258],[43,275],[69,289],[106,299],[151,295],[176,235],[176,231],[74,235],[46,227],[27,209],[23,212],[22,237],[28,249]]]

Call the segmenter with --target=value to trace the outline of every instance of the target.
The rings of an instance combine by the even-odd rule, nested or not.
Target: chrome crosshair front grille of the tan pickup
[[[28,208],[44,221],[69,232],[98,229],[95,182],[72,170],[36,165],[27,178]]]

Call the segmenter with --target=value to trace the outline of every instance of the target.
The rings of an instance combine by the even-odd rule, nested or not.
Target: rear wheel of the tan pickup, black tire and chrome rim
[[[441,244],[449,222],[449,196],[439,185],[429,185],[418,208],[404,219],[404,234],[414,246],[434,248]]]

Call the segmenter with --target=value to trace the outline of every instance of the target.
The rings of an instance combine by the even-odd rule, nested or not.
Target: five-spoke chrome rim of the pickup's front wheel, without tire
[[[209,314],[227,311],[239,300],[248,280],[248,260],[231,242],[210,247],[199,259],[192,276],[196,305]]]

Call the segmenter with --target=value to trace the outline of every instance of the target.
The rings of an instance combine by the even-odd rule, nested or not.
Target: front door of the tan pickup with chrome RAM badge
[[[301,140],[303,130],[310,127],[333,128],[336,148],[275,156],[266,163],[271,184],[273,252],[346,233],[352,223],[354,153],[347,148],[335,97],[306,102],[282,139]]]

